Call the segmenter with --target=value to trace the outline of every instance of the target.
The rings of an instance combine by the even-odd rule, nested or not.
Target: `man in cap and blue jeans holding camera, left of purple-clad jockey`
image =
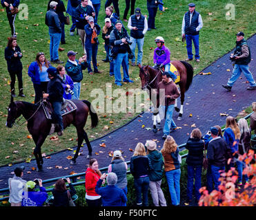
[[[133,83],[129,76],[128,52],[131,53],[128,33],[121,21],[116,21],[115,28],[110,33],[111,56],[114,59],[115,84],[121,87],[121,65],[124,71],[124,83]]]

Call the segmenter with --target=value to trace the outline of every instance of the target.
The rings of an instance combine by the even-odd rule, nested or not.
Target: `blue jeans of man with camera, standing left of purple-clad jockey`
[[[129,80],[129,63],[128,63],[128,53],[126,54],[117,54],[117,57],[114,59],[115,63],[115,83],[121,83],[121,66],[124,71],[123,80]]]

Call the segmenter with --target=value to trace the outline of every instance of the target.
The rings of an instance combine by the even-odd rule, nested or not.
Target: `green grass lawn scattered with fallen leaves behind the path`
[[[65,5],[67,1],[63,0]],[[49,54],[49,36],[48,27],[44,23],[45,13],[47,8],[48,0],[44,1],[28,1],[23,0],[22,3],[28,5],[28,20],[19,20],[17,17],[15,21],[16,30],[18,32],[18,44],[23,52],[23,87],[28,102],[32,102],[34,97],[34,89],[32,82],[28,77],[28,65],[35,61],[35,55],[37,52],[45,52],[46,58],[50,59]],[[99,25],[101,28],[104,25],[104,3],[101,1],[101,10],[99,12]],[[170,48],[172,60],[184,60],[186,58],[186,47],[181,40],[181,21],[184,12],[188,10],[188,1],[165,1],[166,12],[157,12],[156,27],[157,30],[147,32],[144,43],[144,58],[143,64],[152,65],[153,50],[155,48],[154,39],[156,36],[163,36],[166,40],[166,46]],[[246,38],[254,34],[255,32],[255,2],[254,1],[230,1],[235,5],[235,20],[226,21],[225,5],[227,1],[198,1],[197,10],[201,13],[204,27],[200,32],[200,55],[201,62],[192,62],[195,69],[195,74],[198,74],[201,69],[204,69],[210,63],[215,61],[220,56],[229,52],[235,46],[235,33],[243,31],[246,34]],[[146,10],[146,1],[137,0],[135,7],[140,7],[142,14],[148,14]],[[124,13],[125,1],[119,0],[119,8],[121,12],[121,18]],[[208,13],[212,13],[209,15]],[[10,76],[7,71],[6,61],[4,60],[4,49],[7,44],[7,38],[10,36],[10,27],[8,25],[8,19],[5,11],[0,11],[0,23],[1,23],[1,36],[0,36],[0,133],[1,133],[1,144],[0,144],[0,165],[11,164],[26,159],[29,155],[32,155],[32,148],[35,147],[34,142],[27,138],[28,130],[26,124],[20,127],[14,126],[12,129],[7,129],[6,114],[8,104],[10,102],[10,85],[8,80]],[[39,24],[39,25],[37,25]],[[127,26],[127,23],[125,23]],[[62,61],[67,60],[66,52],[68,50],[75,50],[79,52],[78,56],[81,56],[83,49],[81,47],[79,36],[69,36],[70,26],[66,26],[66,45],[60,45],[65,50],[59,52],[60,59]],[[129,32],[130,33],[130,32]],[[177,39],[178,38],[178,39]],[[178,40],[178,41],[177,41]],[[103,63],[101,59],[105,58],[104,44],[101,36],[99,37],[100,45],[98,51],[98,63],[99,70],[104,71],[103,74],[96,74],[95,76],[89,76],[88,72],[83,73],[83,81],[81,87],[81,99],[87,99],[92,102],[95,98],[90,96],[92,89],[103,89],[106,91],[106,83],[112,83],[112,91],[117,89],[113,83],[113,78],[108,76],[109,65]],[[56,65],[55,65],[56,66]],[[135,79],[135,83],[132,85],[124,85],[122,89],[135,89],[140,88],[139,81],[139,69],[138,67],[131,67],[129,69],[130,76]],[[15,85],[17,88],[17,83]],[[112,100],[113,103],[117,103],[117,100],[124,98],[119,96]],[[16,98],[21,100],[21,98]],[[102,105],[99,106],[98,110],[102,109]],[[142,109],[143,110],[143,109]],[[90,118],[86,125],[86,131],[90,140],[96,137],[109,133],[110,131],[117,129],[122,124],[128,122],[131,118],[134,118],[138,113],[128,113],[129,108],[127,107],[126,113],[99,113],[99,126],[96,129],[90,129]],[[105,117],[106,115],[106,117]],[[22,120],[21,120],[22,121]],[[110,124],[110,121],[113,123]],[[108,129],[104,130],[104,126],[108,126]],[[70,139],[73,141],[70,141]],[[42,153],[54,153],[61,149],[75,146],[77,133],[73,126],[70,126],[65,131],[65,135],[59,137],[57,141],[51,141],[48,137],[46,142],[43,144]],[[18,153],[13,153],[18,151]],[[6,158],[7,157],[7,158]]]

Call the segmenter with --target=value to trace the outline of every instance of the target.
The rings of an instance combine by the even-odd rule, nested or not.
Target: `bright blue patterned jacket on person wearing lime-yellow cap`
[[[23,192],[22,195],[24,195],[24,198],[22,199],[21,206],[43,206],[48,197],[44,187],[40,187],[40,192]]]

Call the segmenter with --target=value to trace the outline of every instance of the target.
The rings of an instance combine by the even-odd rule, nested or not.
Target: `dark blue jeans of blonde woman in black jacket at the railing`
[[[137,206],[148,206],[149,177],[135,178],[134,182],[135,182]],[[141,193],[143,196],[143,201],[141,199]]]

